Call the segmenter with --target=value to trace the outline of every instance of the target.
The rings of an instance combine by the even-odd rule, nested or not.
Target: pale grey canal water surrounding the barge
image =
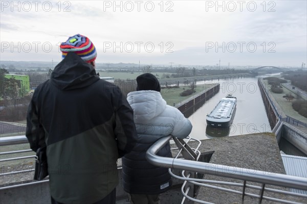
[[[266,109],[258,87],[258,77],[235,79],[220,79],[213,81],[198,81],[197,85],[205,83],[220,83],[220,91],[207,100],[189,119],[193,125],[191,137],[197,139],[210,139],[215,137],[235,136],[252,133],[271,132]],[[217,105],[221,98],[227,94],[237,97],[236,112],[232,125],[227,129],[212,129],[207,127],[206,115]]]

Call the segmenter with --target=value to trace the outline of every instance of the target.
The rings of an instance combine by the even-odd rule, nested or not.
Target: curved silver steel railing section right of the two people
[[[286,175],[286,174],[278,174],[278,173],[273,173],[273,172],[258,171],[258,170],[255,172],[254,169],[236,168],[232,166],[199,162],[197,160],[191,161],[191,160],[179,159],[178,155],[174,158],[165,158],[165,157],[157,156],[156,155],[157,152],[167,142],[169,142],[171,138],[172,138],[171,136],[161,138],[155,144],[153,144],[146,152],[146,159],[153,165],[169,168],[169,172],[173,177],[184,181],[184,184],[181,189],[184,199],[188,198],[192,201],[200,202],[200,203],[211,203],[211,202],[200,200],[198,198],[188,195],[189,190],[186,188],[187,185],[208,187],[208,188],[218,189],[218,190],[227,191],[227,192],[231,192],[235,194],[240,194],[242,195],[242,203],[244,203],[245,196],[258,198],[259,203],[261,203],[262,200],[277,201],[280,203],[297,203],[291,200],[280,199],[277,197],[264,196],[265,191],[283,194],[283,195],[289,195],[289,196],[302,197],[303,199],[307,199],[307,195],[305,194],[294,193],[294,192],[287,191],[287,190],[279,190],[279,189],[273,189],[273,188],[266,187],[266,185],[274,185],[277,187],[307,190],[307,178],[291,176],[291,175]],[[174,173],[172,173],[171,169],[180,169],[183,171],[181,175],[175,175]],[[185,174],[185,171],[210,174],[210,175],[220,176],[224,178],[227,177],[230,179],[241,180],[243,181],[243,183],[190,178],[189,176]],[[261,186],[247,185],[246,182],[260,183]],[[215,184],[215,185],[212,185],[212,184]],[[225,187],[221,187],[218,185],[242,187],[242,191],[234,190],[232,188],[225,188]],[[247,193],[246,192],[247,188],[260,190],[260,194]],[[182,203],[184,203],[184,199],[182,200]]]

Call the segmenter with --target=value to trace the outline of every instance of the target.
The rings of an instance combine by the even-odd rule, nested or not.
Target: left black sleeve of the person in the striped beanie
[[[26,137],[30,143],[30,148],[36,151],[45,144],[45,132],[42,125],[39,123],[39,115],[37,109],[37,93],[38,89],[34,91],[27,113],[27,129]]]

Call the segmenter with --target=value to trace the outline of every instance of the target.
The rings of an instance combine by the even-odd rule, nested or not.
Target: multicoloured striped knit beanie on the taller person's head
[[[97,57],[96,48],[92,41],[80,34],[69,37],[66,42],[62,42],[60,49],[62,51],[62,59],[64,59],[69,52],[76,53],[87,63],[93,62]]]

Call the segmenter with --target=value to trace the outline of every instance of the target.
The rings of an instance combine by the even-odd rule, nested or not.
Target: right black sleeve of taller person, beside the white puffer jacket
[[[129,153],[138,140],[133,110],[119,88],[117,89],[118,103],[115,110],[115,135],[117,138],[119,158]]]

